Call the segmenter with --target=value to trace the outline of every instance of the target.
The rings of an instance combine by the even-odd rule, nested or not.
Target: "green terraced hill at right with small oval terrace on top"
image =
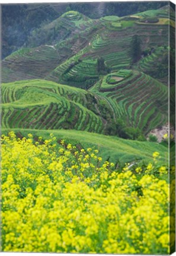
[[[107,77],[91,91],[116,102],[116,116],[127,119],[130,126],[148,133],[167,122],[168,89],[161,82],[138,71],[116,84],[106,81]]]

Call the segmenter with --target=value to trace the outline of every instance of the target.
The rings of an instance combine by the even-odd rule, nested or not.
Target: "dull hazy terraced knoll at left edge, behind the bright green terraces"
[[[2,81],[42,78],[52,71],[60,59],[55,47],[40,46],[21,49],[2,62]]]

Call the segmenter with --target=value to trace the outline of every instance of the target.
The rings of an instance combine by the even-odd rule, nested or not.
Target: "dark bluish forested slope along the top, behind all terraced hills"
[[[168,2],[129,2],[128,8],[125,2],[2,4],[2,57],[24,46],[33,30],[49,24],[71,9],[95,19],[105,15],[130,15],[146,9],[158,9],[166,4]]]

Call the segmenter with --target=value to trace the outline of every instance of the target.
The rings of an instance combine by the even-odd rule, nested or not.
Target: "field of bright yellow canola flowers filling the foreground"
[[[169,253],[168,169],[2,135],[2,251]]]

